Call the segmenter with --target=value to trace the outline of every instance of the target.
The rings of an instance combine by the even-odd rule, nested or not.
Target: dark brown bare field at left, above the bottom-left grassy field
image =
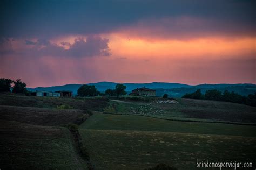
[[[59,110],[32,107],[12,107],[0,105],[0,119],[33,125],[65,125],[82,123],[89,116],[83,110]]]

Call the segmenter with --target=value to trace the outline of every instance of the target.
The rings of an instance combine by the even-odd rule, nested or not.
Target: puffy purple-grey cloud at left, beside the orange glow
[[[88,36],[86,41],[83,38],[75,39],[71,45],[68,42],[62,42],[62,45],[68,45],[65,49],[62,46],[53,44],[46,39],[37,41],[25,40],[25,44],[32,46],[24,48],[22,51],[4,51],[4,54],[16,54],[20,56],[62,56],[62,57],[91,57],[91,56],[110,56],[109,39],[98,36]]]

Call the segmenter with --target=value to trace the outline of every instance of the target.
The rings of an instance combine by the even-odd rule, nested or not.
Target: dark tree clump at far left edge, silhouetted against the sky
[[[26,83],[22,82],[21,79],[0,79],[0,92],[12,92],[12,93],[23,93],[26,94]]]

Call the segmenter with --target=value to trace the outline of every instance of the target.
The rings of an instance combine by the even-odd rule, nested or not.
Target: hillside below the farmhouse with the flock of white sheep
[[[126,99],[111,102],[117,114],[192,121],[256,123],[256,108],[248,105],[185,98],[177,99],[176,103],[171,104],[160,103],[161,101],[164,101],[163,98],[150,99],[148,97],[148,100],[143,98],[139,101]]]

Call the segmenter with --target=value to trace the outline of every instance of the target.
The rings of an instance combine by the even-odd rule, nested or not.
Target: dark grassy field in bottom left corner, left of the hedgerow
[[[86,169],[66,128],[0,121],[1,169]]]

